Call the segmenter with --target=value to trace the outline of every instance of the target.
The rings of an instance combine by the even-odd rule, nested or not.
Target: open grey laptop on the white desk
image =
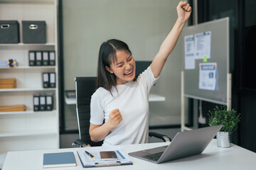
[[[131,152],[129,155],[160,164],[171,160],[201,154],[223,125],[178,132],[170,145]]]

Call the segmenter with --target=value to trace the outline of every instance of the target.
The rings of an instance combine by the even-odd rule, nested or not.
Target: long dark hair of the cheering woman
[[[112,86],[117,86],[116,76],[105,69],[106,66],[110,68],[112,62],[117,60],[117,50],[127,50],[132,55],[128,45],[121,40],[111,39],[100,45],[96,89],[103,87],[111,93]]]

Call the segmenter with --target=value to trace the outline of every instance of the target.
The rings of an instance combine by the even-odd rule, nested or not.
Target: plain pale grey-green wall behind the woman
[[[135,60],[153,60],[177,18],[179,0],[63,0],[65,90],[74,77],[96,76],[100,45],[110,38],[127,42]],[[181,39],[151,93],[150,124],[178,124],[181,114]],[[72,119],[72,118],[70,118]]]

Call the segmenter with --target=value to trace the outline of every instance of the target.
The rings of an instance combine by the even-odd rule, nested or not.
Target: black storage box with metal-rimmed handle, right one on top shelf
[[[46,21],[22,21],[23,43],[46,43]]]

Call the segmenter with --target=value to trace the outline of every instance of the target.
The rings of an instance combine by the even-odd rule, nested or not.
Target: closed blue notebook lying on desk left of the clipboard
[[[76,166],[73,152],[59,152],[43,154],[43,168]]]

